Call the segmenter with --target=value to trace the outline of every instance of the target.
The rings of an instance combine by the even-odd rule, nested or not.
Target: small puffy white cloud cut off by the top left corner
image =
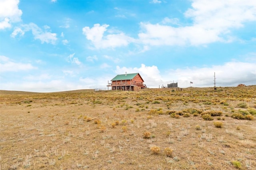
[[[18,8],[19,0],[0,0],[0,29],[11,27],[11,23],[21,20],[22,10]]]

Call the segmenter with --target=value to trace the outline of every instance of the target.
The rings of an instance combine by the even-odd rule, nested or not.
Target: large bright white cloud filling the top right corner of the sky
[[[193,0],[192,8],[185,16],[193,18],[194,24],[205,29],[227,31],[230,27],[239,28],[243,22],[256,20],[256,2],[254,0]]]

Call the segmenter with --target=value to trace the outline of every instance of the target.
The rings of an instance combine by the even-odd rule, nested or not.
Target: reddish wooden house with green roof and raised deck
[[[111,83],[108,83],[108,87],[111,87],[112,90],[134,91],[147,88],[143,82],[139,73],[118,74],[111,80]]]

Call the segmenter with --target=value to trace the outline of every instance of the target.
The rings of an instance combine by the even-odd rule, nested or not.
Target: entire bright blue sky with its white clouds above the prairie
[[[256,84],[255,0],[0,0],[0,89]]]

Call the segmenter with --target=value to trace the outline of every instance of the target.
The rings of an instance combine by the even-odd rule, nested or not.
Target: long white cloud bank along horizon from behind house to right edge
[[[196,87],[214,86],[214,72],[216,73],[216,86],[237,86],[238,84],[256,84],[256,63],[228,62],[223,65],[210,67],[192,67],[176,70],[168,70],[161,73],[157,66],[141,64],[139,68],[127,68],[116,66],[116,74],[139,72],[144,83],[150,88],[158,88],[159,85],[178,82],[179,87],[189,87],[190,81]]]

